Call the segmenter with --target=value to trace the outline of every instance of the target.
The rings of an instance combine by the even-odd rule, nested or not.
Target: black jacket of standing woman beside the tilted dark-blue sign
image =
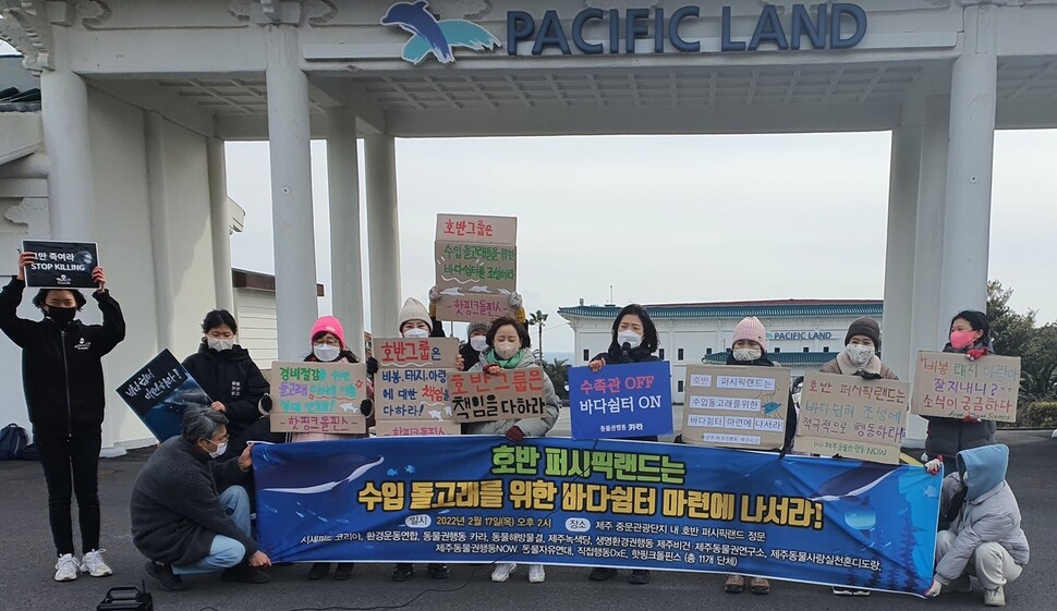
[[[185,358],[183,366],[209,399],[223,403],[232,439],[240,438],[246,427],[265,416],[259,405],[268,392],[268,381],[246,349],[235,344],[231,350],[217,352],[203,340],[198,352]]]

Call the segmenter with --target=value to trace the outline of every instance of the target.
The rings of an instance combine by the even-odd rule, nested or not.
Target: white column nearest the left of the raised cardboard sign
[[[400,223],[397,218],[397,149],[392,136],[364,138],[367,172],[367,258],[370,332],[392,337],[400,314]]]

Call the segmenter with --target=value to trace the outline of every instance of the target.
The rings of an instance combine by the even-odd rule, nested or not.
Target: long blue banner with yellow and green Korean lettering
[[[435,436],[256,445],[274,562],[739,573],[921,596],[939,475],[718,448]]]

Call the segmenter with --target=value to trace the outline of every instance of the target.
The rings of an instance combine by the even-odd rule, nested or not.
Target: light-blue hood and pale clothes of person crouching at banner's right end
[[[969,486],[950,525],[955,542],[936,563],[936,579],[950,584],[964,575],[973,552],[987,542],[1000,545],[1018,565],[1028,564],[1031,550],[1020,527],[1020,506],[1006,482],[1009,448],[998,444],[963,450],[957,460],[959,473],[944,477],[940,512],[948,513],[949,505],[965,491],[962,473],[969,476]]]

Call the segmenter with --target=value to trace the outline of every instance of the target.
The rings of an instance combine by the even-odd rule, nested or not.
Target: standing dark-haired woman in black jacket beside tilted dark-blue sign
[[[239,345],[239,325],[226,309],[206,314],[202,321],[198,352],[183,361],[183,366],[202,390],[212,399],[211,407],[228,417],[231,436],[221,461],[238,456],[246,441],[282,441],[271,433],[266,417],[271,410],[268,381],[260,375],[246,349]]]

